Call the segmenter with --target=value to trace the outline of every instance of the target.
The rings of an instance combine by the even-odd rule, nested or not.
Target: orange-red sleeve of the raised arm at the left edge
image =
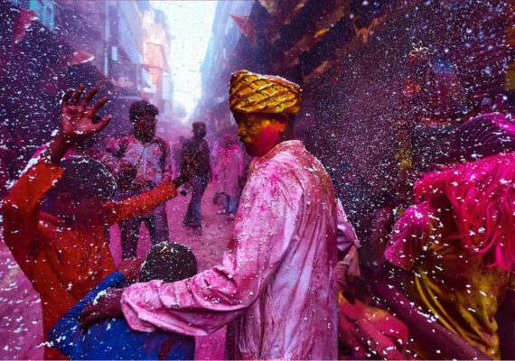
[[[26,273],[31,243],[38,232],[40,207],[45,194],[61,178],[63,169],[46,162],[34,164],[23,173],[2,203],[4,240],[14,259]]]

